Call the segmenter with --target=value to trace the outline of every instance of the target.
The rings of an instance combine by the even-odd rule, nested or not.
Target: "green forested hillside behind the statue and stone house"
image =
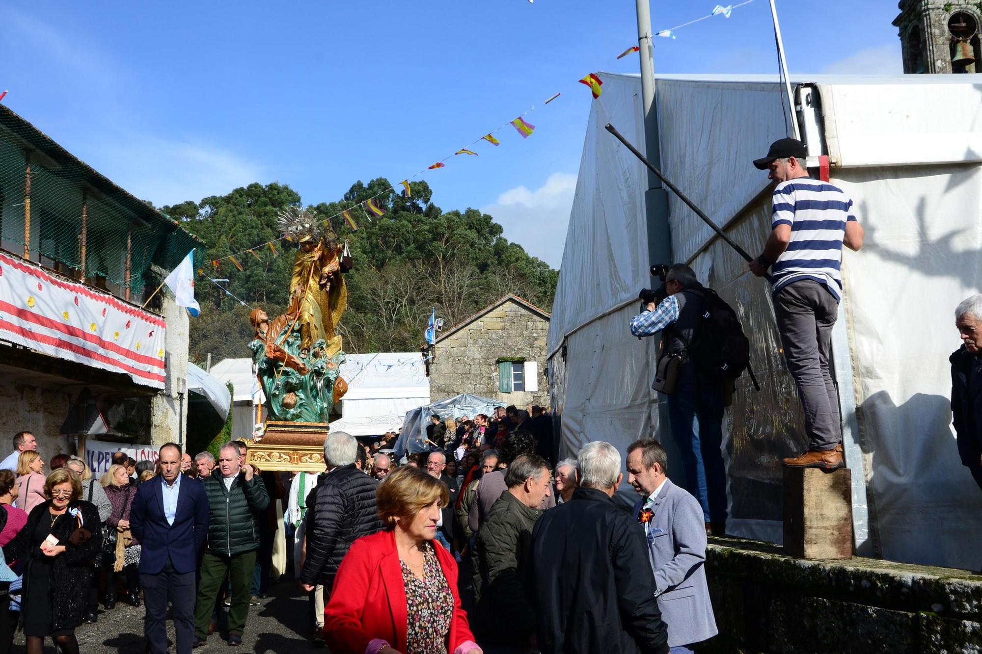
[[[340,200],[310,208],[326,218],[390,187],[382,178],[357,182]],[[387,210],[381,218],[369,222],[360,210],[353,212],[357,231],[340,218],[332,221],[355,260],[340,327],[346,352],[418,350],[430,307],[448,327],[509,293],[551,309],[557,271],[503,239],[491,216],[469,208],[443,211],[430,198],[429,186],[416,182],[409,198],[376,198]],[[210,262],[279,238],[277,213],[289,205],[302,206],[300,194],[273,183],[161,208],[207,244],[195,253],[195,266],[230,280],[222,286],[247,305],[198,277],[194,290],[201,313],[191,319],[192,360],[201,362],[209,353],[212,361],[248,355],[248,306],[263,307],[271,316],[286,307],[296,245],[278,242],[278,255],[269,246],[246,252],[237,257],[242,271],[228,259],[217,270]]]

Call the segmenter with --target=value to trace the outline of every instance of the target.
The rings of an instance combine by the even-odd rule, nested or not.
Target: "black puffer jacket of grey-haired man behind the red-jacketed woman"
[[[355,463],[317,478],[307,495],[306,560],[300,583],[321,584],[330,592],[341,560],[355,539],[385,526],[376,513],[376,488],[378,481]]]

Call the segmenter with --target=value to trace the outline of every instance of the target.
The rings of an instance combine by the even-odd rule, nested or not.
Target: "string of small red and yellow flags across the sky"
[[[729,19],[732,16],[732,14],[733,14],[733,10],[735,10],[735,9],[737,9],[739,7],[743,7],[745,5],[748,5],[751,2],[753,2],[753,0],[744,0],[743,2],[734,4],[734,5],[727,5],[727,6],[716,5],[713,8],[713,10],[709,14],[707,14],[705,16],[701,16],[701,17],[699,17],[697,19],[688,21],[687,23],[682,23],[682,25],[678,25],[678,26],[675,26],[675,27],[670,27],[668,29],[661,29],[661,30],[655,32],[655,35],[656,36],[660,36],[662,38],[673,38],[674,39],[674,38],[676,38],[676,33],[675,32],[676,32],[677,29],[680,29],[682,27],[688,27],[690,25],[693,25],[695,23],[699,23],[700,21],[705,21],[705,20],[710,19],[710,18],[713,18],[715,16],[721,16],[722,15],[724,18]],[[628,47],[627,50],[625,50],[620,55],[618,55],[617,58],[618,59],[622,59],[622,58],[626,57],[628,54],[630,54],[632,52],[639,52],[639,51],[640,51],[640,48],[637,45],[632,45],[632,46]],[[581,78],[580,80],[578,80],[577,82],[582,83],[582,84],[585,84],[586,86],[589,86],[590,87],[590,91],[592,92],[592,95],[593,95],[594,99],[596,99],[597,97],[599,97],[600,94],[603,92],[602,91],[602,88],[601,88],[601,86],[603,85],[603,81],[600,80],[600,77],[596,73],[590,73],[590,74],[584,76],[583,78]],[[6,91],[4,93],[0,94],[0,99],[3,98],[3,95],[5,93],[6,93]],[[551,95],[543,104],[549,104],[550,102],[552,102],[556,98],[560,97],[561,94],[562,93],[555,93],[554,95]],[[485,134],[484,136],[481,136],[481,137],[477,138],[476,140],[473,141],[473,143],[469,144],[467,147],[460,148],[459,150],[457,150],[456,152],[454,152],[454,155],[453,156],[457,156],[457,155],[460,155],[460,154],[466,154],[468,156],[478,156],[478,152],[475,151],[475,149],[471,149],[471,148],[473,148],[473,144],[479,143],[481,141],[486,141],[486,142],[490,143],[491,145],[494,145],[495,147],[501,145],[501,141],[495,135],[498,132],[500,132],[501,130],[504,130],[504,129],[508,128],[509,126],[515,128],[515,130],[518,132],[518,136],[521,136],[522,138],[527,138],[528,136],[531,136],[532,133],[535,131],[535,126],[532,125],[531,123],[529,123],[527,120],[525,120],[525,116],[527,116],[532,111],[535,111],[535,107],[534,106],[531,107],[530,109],[528,109],[528,111],[526,111],[525,113],[523,113],[520,116],[518,116],[518,118],[516,118],[516,119],[514,119],[512,121],[509,121],[508,123],[505,123],[505,124],[503,124],[501,126],[499,126],[497,129],[492,130],[491,132]],[[402,189],[403,189],[401,191],[402,195],[404,197],[411,197],[411,195],[412,195],[411,187],[409,185],[409,180],[412,180],[412,179],[415,179],[415,178],[421,176],[427,170],[436,170],[436,169],[439,169],[439,168],[446,168],[446,162],[449,159],[453,158],[453,156],[447,157],[445,159],[442,159],[442,160],[438,161],[437,163],[434,163],[434,164],[428,166],[426,169],[424,169],[422,171],[419,171],[415,175],[412,175],[409,178],[407,178],[407,179],[403,180],[402,182],[400,182],[399,185],[402,186]],[[357,204],[355,204],[352,207],[349,207],[349,208],[347,208],[347,209],[345,209],[343,211],[340,211],[340,212],[334,214],[333,216],[328,216],[326,219],[322,220],[321,222],[323,222],[324,225],[331,225],[332,224],[332,221],[334,219],[341,218],[341,219],[344,219],[345,223],[348,225],[348,227],[351,228],[352,231],[356,231],[358,229],[358,226],[355,223],[355,219],[353,217],[352,212],[355,209],[357,209],[358,207],[360,207],[361,210],[362,210],[362,212],[364,213],[365,219],[368,220],[368,222],[371,222],[371,216],[372,215],[374,215],[376,218],[381,217],[381,216],[384,216],[386,214],[387,209],[384,208],[384,205],[382,203],[380,203],[379,198],[382,197],[382,196],[384,196],[384,195],[388,195],[391,192],[396,192],[396,190],[394,188],[389,188],[389,189],[386,189],[384,191],[380,191],[380,192],[376,193],[375,195],[372,195],[371,197],[366,198],[366,199],[358,202]],[[235,254],[229,254],[227,256],[220,257],[218,259],[212,259],[211,260],[211,265],[212,265],[213,268],[217,269],[219,267],[219,264],[220,264],[221,261],[224,261],[225,259],[228,259],[228,260],[230,260],[232,262],[232,264],[236,268],[238,268],[239,270],[244,270],[243,264],[237,258],[238,256],[244,255],[246,252],[248,252],[248,253],[252,254],[253,256],[255,256],[257,259],[262,260],[258,256],[258,254],[256,253],[255,250],[256,249],[259,249],[261,247],[265,247],[265,246],[268,245],[270,251],[272,251],[272,253],[273,253],[273,256],[276,257],[280,253],[279,250],[277,249],[276,243],[278,243],[280,241],[288,241],[288,242],[290,242],[291,239],[289,237],[283,236],[283,237],[280,237],[279,239],[274,239],[273,241],[270,241],[270,242],[265,243],[265,244],[262,244],[262,245],[255,245],[254,247],[250,247],[250,248],[244,249],[241,252],[236,252]],[[201,274],[201,275],[204,275],[203,269],[198,269],[198,273]],[[204,275],[204,276],[207,277],[207,275]]]

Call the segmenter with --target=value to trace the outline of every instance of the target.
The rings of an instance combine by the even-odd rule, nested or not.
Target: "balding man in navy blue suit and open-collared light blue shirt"
[[[181,474],[181,446],[161,446],[160,474],[141,483],[130,510],[130,529],[143,546],[139,581],[146,605],[144,633],[152,654],[167,652],[167,600],[173,605],[178,654],[194,637],[194,569],[208,531],[204,488]]]

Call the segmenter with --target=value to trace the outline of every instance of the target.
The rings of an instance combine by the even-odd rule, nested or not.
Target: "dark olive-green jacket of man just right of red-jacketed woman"
[[[489,642],[525,646],[535,615],[525,592],[524,573],[531,553],[532,527],[542,511],[530,509],[507,490],[493,505],[474,539],[473,625]],[[483,641],[482,641],[483,642]]]

